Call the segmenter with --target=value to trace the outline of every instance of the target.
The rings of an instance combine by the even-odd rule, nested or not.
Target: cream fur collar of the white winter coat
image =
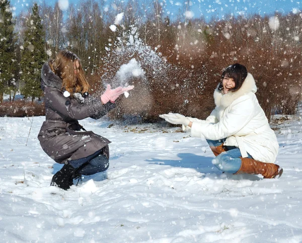
[[[218,85],[219,87],[219,85]],[[248,73],[245,81],[243,82],[242,86],[239,90],[235,92],[228,92],[227,94],[222,94],[221,91],[218,90],[218,87],[214,91],[214,101],[216,106],[222,106],[224,108],[228,107],[232,104],[234,100],[237,98],[249,93],[253,92],[256,93],[257,87],[253,76]]]

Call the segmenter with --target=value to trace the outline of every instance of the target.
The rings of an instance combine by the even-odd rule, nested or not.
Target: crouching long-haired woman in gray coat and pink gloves
[[[111,89],[108,85],[100,98],[89,96],[89,84],[79,57],[65,50],[43,65],[41,78],[46,120],[38,139],[47,155],[64,164],[53,175],[50,185],[67,190],[73,185],[74,178],[109,167],[108,144],[111,142],[86,131],[78,120],[105,115],[115,107],[114,101],[119,95],[134,86]]]

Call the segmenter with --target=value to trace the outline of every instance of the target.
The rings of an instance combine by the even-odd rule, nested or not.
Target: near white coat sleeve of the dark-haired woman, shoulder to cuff
[[[242,96],[231,104],[231,109],[216,124],[192,124],[192,137],[219,140],[230,137],[243,129],[254,115],[254,104],[248,96]]]

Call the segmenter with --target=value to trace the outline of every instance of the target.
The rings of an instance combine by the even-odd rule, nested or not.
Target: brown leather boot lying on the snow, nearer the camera
[[[281,176],[283,169],[273,163],[264,163],[255,159],[241,158],[241,167],[235,174],[262,174],[263,178],[275,178]]]

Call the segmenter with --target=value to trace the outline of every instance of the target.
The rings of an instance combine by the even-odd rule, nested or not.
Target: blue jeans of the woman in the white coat
[[[217,147],[224,143],[225,139],[221,140],[206,140],[210,147]],[[240,149],[235,146],[225,146],[225,152],[219,154],[212,160],[219,170],[229,173],[236,173],[241,167],[241,152]],[[252,159],[252,156],[248,154],[248,158]]]

